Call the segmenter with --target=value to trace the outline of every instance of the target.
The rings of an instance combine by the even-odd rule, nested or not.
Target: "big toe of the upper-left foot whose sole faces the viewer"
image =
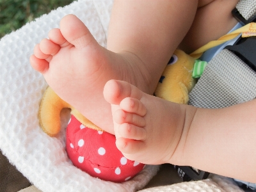
[[[64,38],[77,48],[97,43],[89,29],[76,15],[66,15],[60,21],[60,31]]]

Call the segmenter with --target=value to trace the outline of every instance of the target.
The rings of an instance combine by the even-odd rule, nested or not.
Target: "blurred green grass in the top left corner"
[[[0,0],[0,38],[74,0]]]

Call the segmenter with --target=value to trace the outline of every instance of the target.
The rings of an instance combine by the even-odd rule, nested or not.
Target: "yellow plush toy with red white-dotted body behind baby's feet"
[[[166,66],[155,95],[172,102],[186,104],[195,85],[192,77],[195,59],[176,50]],[[60,113],[71,109],[66,131],[66,150],[72,163],[84,172],[103,180],[124,182],[140,172],[144,164],[126,159],[115,146],[115,136],[104,132],[70,104],[47,88],[41,102],[39,118],[44,132],[55,136],[60,131]]]

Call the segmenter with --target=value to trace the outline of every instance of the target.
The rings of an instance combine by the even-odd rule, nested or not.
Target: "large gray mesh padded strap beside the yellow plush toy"
[[[234,53],[224,49],[208,63],[189,93],[189,104],[200,108],[224,108],[255,97],[256,73]]]

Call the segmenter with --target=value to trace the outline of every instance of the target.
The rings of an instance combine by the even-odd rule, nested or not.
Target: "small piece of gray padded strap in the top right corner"
[[[240,0],[236,5],[239,13],[244,19],[252,19],[256,15],[256,1],[255,0]]]

